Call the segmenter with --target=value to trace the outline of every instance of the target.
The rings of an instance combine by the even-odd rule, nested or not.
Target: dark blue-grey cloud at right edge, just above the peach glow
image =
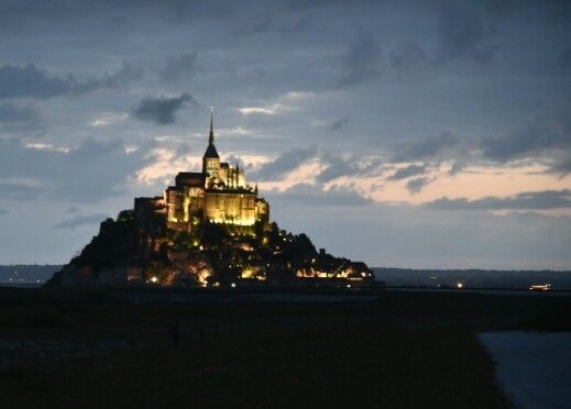
[[[482,141],[483,155],[490,159],[509,159],[537,156],[547,150],[571,147],[571,122],[534,122],[504,137]]]

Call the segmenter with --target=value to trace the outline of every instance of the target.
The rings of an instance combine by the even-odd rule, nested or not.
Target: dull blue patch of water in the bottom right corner
[[[571,407],[571,332],[485,332],[480,339],[518,408]]]

